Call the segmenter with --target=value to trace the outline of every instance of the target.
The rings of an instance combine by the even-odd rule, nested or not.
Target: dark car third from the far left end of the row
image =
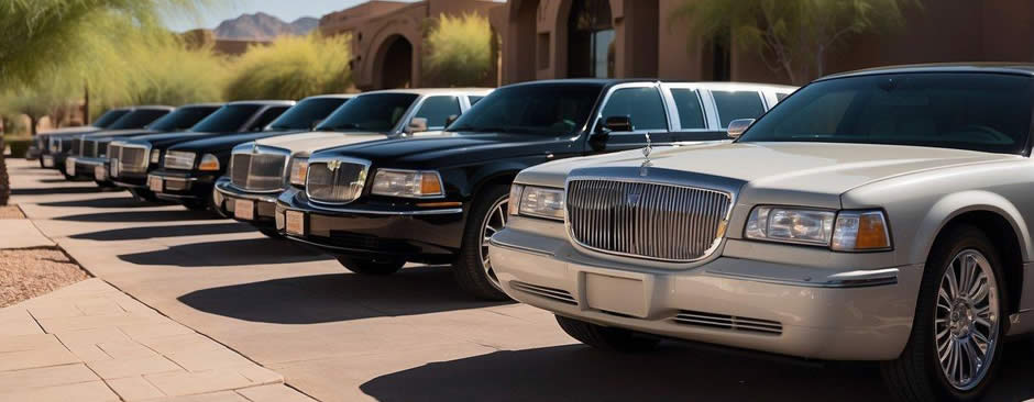
[[[77,155],[68,156],[65,160],[65,170],[76,179],[91,179],[101,187],[113,187],[108,178],[108,144],[118,138],[134,136],[175,133],[188,130],[201,119],[212,114],[222,103],[197,103],[176,108],[143,129],[101,130],[79,136],[80,145]],[[75,141],[75,139],[74,139]]]

